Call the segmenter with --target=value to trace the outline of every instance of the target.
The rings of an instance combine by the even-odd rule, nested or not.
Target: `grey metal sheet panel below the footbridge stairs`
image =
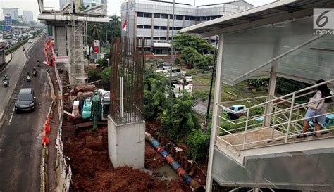
[[[215,148],[213,178],[221,186],[334,190],[333,148],[247,158],[242,166]]]

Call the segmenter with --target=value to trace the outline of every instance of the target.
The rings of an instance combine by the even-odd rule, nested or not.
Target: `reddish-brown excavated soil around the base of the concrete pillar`
[[[73,184],[70,191],[190,191],[182,180],[159,181],[139,169],[130,167],[113,168],[109,160],[108,134],[106,127],[98,129],[103,136],[103,146],[99,151],[86,145],[91,130],[78,130],[75,134],[63,136],[65,155],[70,158]],[[162,164],[163,159],[154,148],[145,153],[147,167]]]

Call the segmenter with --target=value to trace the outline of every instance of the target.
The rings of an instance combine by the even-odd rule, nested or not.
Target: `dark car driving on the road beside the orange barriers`
[[[32,88],[22,88],[18,92],[18,97],[14,98],[14,108],[16,112],[35,110],[35,93]]]

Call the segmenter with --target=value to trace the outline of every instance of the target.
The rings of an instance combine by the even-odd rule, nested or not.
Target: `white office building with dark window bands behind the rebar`
[[[254,7],[245,1],[192,6],[175,3],[174,34],[182,28],[207,20],[230,15]],[[147,39],[146,51],[154,54],[167,54],[171,47],[173,3],[166,1],[129,0],[121,6],[122,25],[127,20],[126,31],[122,36]],[[216,38],[210,38],[214,43]]]

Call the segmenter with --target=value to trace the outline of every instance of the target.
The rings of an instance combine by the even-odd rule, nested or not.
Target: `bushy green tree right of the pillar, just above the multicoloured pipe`
[[[198,118],[192,110],[194,105],[194,97],[184,93],[179,98],[173,98],[171,107],[163,110],[161,125],[172,141],[178,141],[181,136],[189,135],[192,129],[199,128]]]

